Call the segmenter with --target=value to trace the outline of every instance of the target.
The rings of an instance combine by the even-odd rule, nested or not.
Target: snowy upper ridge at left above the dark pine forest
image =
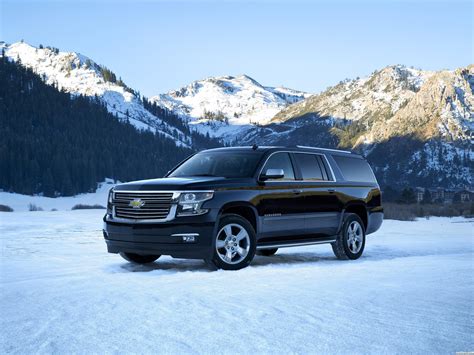
[[[147,111],[133,90],[90,58],[55,48],[36,48],[23,42],[3,44],[2,47],[8,58],[33,69],[47,84],[74,95],[97,95],[109,112],[129,120],[138,129],[160,132],[175,139],[179,145],[192,144],[185,133]]]

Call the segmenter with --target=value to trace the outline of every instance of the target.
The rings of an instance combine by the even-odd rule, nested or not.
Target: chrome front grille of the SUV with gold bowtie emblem
[[[166,220],[173,212],[173,192],[115,191],[112,199],[116,218]]]

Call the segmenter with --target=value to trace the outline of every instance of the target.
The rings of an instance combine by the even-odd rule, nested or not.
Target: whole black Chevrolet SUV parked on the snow
[[[380,189],[365,159],[311,147],[205,150],[165,178],[121,184],[109,194],[109,253],[134,263],[160,255],[237,270],[255,253],[331,243],[339,259],[362,255],[383,220]]]

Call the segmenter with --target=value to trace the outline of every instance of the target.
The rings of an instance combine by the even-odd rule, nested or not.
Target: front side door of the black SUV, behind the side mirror
[[[256,204],[262,219],[261,236],[287,236],[303,234],[304,196],[296,181],[293,162],[288,152],[276,152],[270,155],[262,168],[283,169],[283,179],[266,180],[262,183],[259,201]]]

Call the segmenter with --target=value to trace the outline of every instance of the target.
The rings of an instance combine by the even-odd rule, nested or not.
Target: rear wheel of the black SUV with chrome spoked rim
[[[344,214],[341,231],[331,246],[334,255],[340,260],[360,258],[365,248],[365,228],[358,215],[355,213]]]

